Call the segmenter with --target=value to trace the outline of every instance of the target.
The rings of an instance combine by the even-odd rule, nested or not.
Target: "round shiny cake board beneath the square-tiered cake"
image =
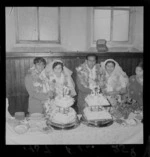
[[[91,127],[106,127],[113,124],[113,119],[101,119],[88,121],[84,116],[81,117],[81,122]]]

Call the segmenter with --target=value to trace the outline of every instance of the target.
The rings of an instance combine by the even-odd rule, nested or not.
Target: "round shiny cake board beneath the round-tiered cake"
[[[58,124],[48,120],[47,125],[53,127],[56,130],[70,130],[76,128],[79,125],[79,120],[76,119],[75,122],[68,124]]]

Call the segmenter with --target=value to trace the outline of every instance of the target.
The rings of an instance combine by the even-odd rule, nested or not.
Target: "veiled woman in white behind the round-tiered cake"
[[[69,94],[73,97],[76,95],[75,84],[71,78],[72,71],[66,68],[61,60],[49,63],[45,68],[45,73],[55,96]]]

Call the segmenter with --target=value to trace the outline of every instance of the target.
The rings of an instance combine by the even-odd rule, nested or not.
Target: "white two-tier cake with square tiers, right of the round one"
[[[83,116],[88,121],[112,119],[108,111],[105,110],[105,106],[109,106],[109,102],[102,93],[93,91],[85,98],[87,107],[83,110]]]

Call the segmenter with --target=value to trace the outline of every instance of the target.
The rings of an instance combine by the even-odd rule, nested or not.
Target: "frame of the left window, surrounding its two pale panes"
[[[40,40],[40,29],[39,29],[39,7],[36,7],[37,15],[37,40],[20,40],[19,39],[19,24],[18,24],[18,7],[15,7],[15,34],[16,34],[16,44],[61,44],[61,27],[60,27],[60,7],[58,8],[58,40]]]

